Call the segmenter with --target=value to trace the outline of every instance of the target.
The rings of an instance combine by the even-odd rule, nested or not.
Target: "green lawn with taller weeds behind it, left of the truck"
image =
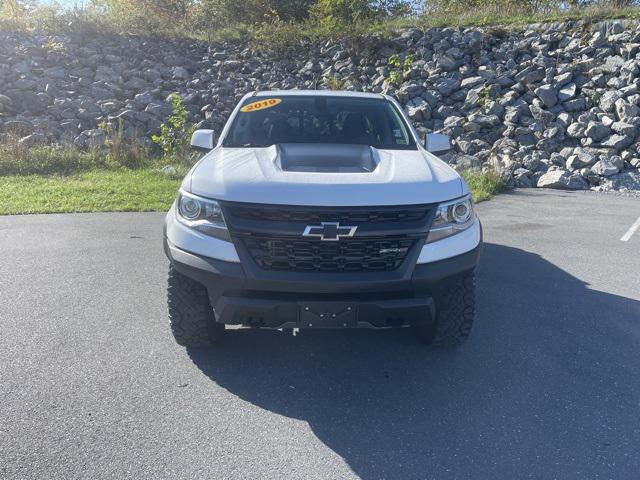
[[[0,215],[166,210],[195,159],[153,156],[116,138],[103,149],[0,143]],[[160,172],[172,165],[174,175]]]

